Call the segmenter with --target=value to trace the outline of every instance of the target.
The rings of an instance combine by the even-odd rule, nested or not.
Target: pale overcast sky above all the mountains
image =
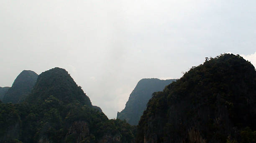
[[[66,69],[116,118],[142,78],[180,78],[205,57],[256,65],[256,0],[0,0],[0,86]]]

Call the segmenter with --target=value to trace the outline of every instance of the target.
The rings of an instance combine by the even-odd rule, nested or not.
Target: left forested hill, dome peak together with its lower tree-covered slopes
[[[26,101],[0,104],[0,142],[132,143],[136,127],[108,120],[66,70],[50,69]]]

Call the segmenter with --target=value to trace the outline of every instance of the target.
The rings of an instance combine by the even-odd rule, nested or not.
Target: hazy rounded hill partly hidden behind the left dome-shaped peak
[[[20,103],[26,99],[36,83],[37,76],[38,74],[33,71],[22,71],[13,82],[13,86],[4,95],[3,103]]]

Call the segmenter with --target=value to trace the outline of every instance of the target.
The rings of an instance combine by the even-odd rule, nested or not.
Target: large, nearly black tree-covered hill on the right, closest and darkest
[[[255,143],[255,119],[255,68],[239,55],[222,54],[153,94],[136,142]]]

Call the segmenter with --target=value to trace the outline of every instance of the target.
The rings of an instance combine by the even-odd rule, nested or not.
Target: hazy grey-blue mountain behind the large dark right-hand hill
[[[126,120],[131,125],[138,125],[138,121],[146,109],[148,100],[156,91],[162,91],[164,87],[176,79],[141,79],[125,104],[125,108],[117,113],[117,118]]]

